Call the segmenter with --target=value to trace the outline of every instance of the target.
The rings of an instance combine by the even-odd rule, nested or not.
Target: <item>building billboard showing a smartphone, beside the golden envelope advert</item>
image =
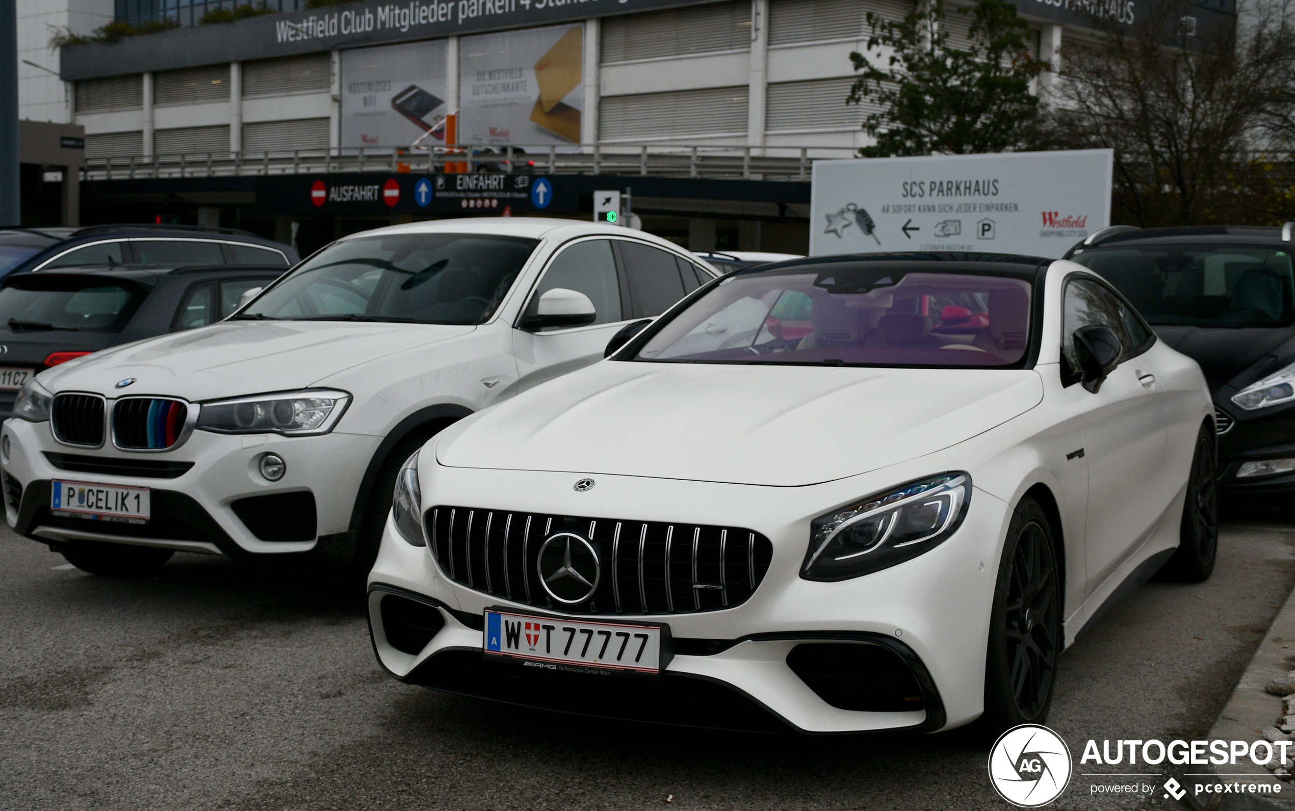
[[[342,52],[342,146],[408,146],[448,113],[445,40]]]

